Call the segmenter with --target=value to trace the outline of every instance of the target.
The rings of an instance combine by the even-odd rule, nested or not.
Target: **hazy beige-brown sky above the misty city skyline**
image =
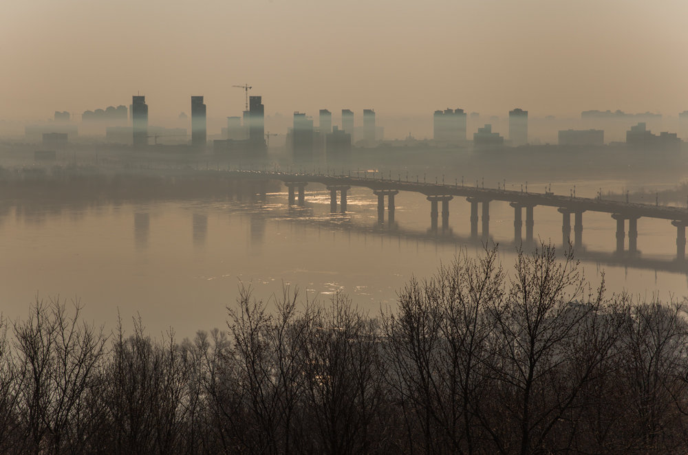
[[[0,0],[0,118],[688,109],[686,0]]]

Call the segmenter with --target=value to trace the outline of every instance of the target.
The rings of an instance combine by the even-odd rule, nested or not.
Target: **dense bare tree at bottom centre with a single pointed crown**
[[[303,362],[312,448],[323,454],[369,453],[384,395],[376,328],[341,293],[314,325]]]

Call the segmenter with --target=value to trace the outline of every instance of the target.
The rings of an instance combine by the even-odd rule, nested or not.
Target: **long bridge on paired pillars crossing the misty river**
[[[240,179],[272,179],[282,181],[288,188],[288,202],[290,205],[298,203],[303,206],[305,200],[304,188],[308,184],[322,184],[330,190],[330,211],[346,212],[347,191],[352,186],[369,188],[378,197],[378,222],[385,223],[385,197],[387,198],[387,221],[394,223],[395,197],[399,192],[417,192],[425,195],[430,202],[431,231],[438,232],[440,225],[439,204],[442,203],[442,231],[449,229],[449,201],[454,197],[464,197],[471,203],[471,238],[479,238],[478,221],[480,221],[480,237],[486,240],[490,232],[490,202],[505,201],[514,209],[514,242],[533,242],[533,208],[548,206],[557,208],[562,215],[561,232],[564,244],[571,242],[571,215],[574,216],[574,248],[582,247],[583,212],[603,212],[611,215],[616,222],[616,253],[638,253],[638,219],[642,217],[666,219],[676,227],[676,258],[685,260],[686,226],[688,225],[688,209],[660,206],[645,203],[628,203],[610,201],[597,198],[573,197],[555,195],[551,192],[533,193],[528,191],[506,190],[502,188],[479,188],[477,186],[463,186],[458,182],[454,185],[427,183],[419,181],[402,181],[399,179],[368,178],[360,175],[314,175],[304,173],[283,173],[267,170],[228,170],[230,177]],[[298,195],[298,199],[297,199]],[[339,195],[339,198],[337,198]],[[339,199],[339,203],[337,202]],[[480,210],[479,210],[480,206]],[[523,211],[526,212],[526,236],[522,237],[524,224]],[[480,217],[479,217],[480,214]],[[628,221],[628,242],[626,249],[626,221]]]

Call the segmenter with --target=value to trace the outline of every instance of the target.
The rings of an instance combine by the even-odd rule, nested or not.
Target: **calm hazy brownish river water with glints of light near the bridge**
[[[422,178],[422,177],[421,177]],[[660,188],[663,182],[644,182]],[[546,182],[531,182],[543,192]],[[625,181],[559,181],[551,190],[594,197],[599,188],[638,188]],[[654,186],[653,186],[654,185]],[[496,186],[496,185],[495,185]],[[507,188],[508,188],[507,184]],[[542,187],[542,188],[540,188]],[[277,188],[277,186],[275,186]],[[549,188],[548,188],[549,189]],[[450,203],[451,234],[429,233],[430,203],[423,195],[396,197],[396,224],[377,223],[377,198],[352,188],[346,214],[330,214],[330,192],[306,187],[305,206],[290,208],[283,186],[264,201],[247,197],[107,201],[88,206],[69,202],[6,202],[0,211],[0,301],[10,320],[24,318],[32,300],[79,298],[89,320],[109,331],[118,312],[129,326],[140,315],[151,335],[170,327],[178,337],[199,329],[224,328],[226,307],[240,283],[257,298],[298,287],[302,298],[349,294],[359,308],[375,314],[394,306],[398,290],[414,274],[429,276],[460,249],[480,254],[471,243],[470,205]],[[499,243],[504,266],[515,258],[513,209],[490,205],[491,242]],[[561,214],[535,208],[535,237],[562,245]],[[666,220],[638,221],[641,260],[632,265],[614,256],[614,220],[583,215],[582,265],[592,285],[605,272],[607,287],[651,297],[661,291],[688,295],[685,269],[676,267],[676,228]]]

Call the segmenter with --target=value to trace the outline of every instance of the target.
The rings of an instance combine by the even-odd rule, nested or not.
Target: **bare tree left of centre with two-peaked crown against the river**
[[[303,358],[313,329],[315,308],[305,302],[297,311],[298,291],[284,287],[275,298],[277,312],[270,315],[266,303],[254,300],[241,287],[239,309],[228,308],[229,329],[235,343],[241,395],[246,397],[245,450],[266,454],[294,451],[292,435],[298,403],[303,393]]]

